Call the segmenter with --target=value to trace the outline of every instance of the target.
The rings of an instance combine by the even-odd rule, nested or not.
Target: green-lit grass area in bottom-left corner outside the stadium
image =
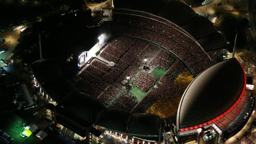
[[[0,129],[13,138],[10,144],[42,144],[42,141],[34,135],[30,135],[27,138],[20,137],[20,133],[24,131],[23,124],[26,127],[28,122],[16,114],[4,113],[0,114],[0,117]]]

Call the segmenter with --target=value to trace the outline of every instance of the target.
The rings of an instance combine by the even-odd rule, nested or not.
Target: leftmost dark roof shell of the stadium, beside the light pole
[[[62,77],[61,68],[56,61],[51,59],[39,59],[31,64],[33,74],[40,84],[50,79]]]

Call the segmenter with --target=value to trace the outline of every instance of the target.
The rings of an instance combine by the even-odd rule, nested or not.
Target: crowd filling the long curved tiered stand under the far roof
[[[187,63],[195,74],[213,63],[190,36],[173,26],[137,15],[115,13],[114,16],[117,23],[130,26],[124,30],[124,35],[141,37],[164,46]]]

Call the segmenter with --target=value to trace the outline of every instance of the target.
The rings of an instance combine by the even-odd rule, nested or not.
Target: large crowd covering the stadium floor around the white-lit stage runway
[[[156,46],[131,37],[121,37],[113,40],[104,48],[99,56],[108,61],[115,62],[116,65],[110,67],[107,63],[94,58],[78,76],[76,87],[81,92],[98,98],[107,107],[113,106],[128,112],[131,112],[138,102],[122,86],[121,82],[127,79],[127,77],[132,79],[138,74],[140,70],[138,63],[148,63],[152,68],[168,69],[175,62],[175,59],[167,54],[165,50],[160,50]],[[146,61],[144,61],[145,59]],[[176,61],[161,79],[161,85],[156,84],[158,79],[156,76],[148,72],[141,72],[132,81],[136,87],[145,92],[155,84],[159,88],[154,92],[150,91],[134,111],[137,111],[136,109],[145,110],[146,107],[152,105],[162,96],[174,96],[176,93],[173,93],[173,91],[177,90],[169,89],[169,87],[175,79],[174,75],[182,72],[183,69],[183,63]],[[176,87],[175,89],[180,88]]]

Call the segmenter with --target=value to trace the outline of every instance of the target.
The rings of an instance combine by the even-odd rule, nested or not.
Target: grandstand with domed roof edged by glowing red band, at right
[[[178,141],[195,140],[192,136],[197,135],[198,129],[213,124],[223,129],[225,139],[236,134],[249,120],[255,103],[246,84],[243,67],[235,58],[200,73],[180,101],[176,127]]]

